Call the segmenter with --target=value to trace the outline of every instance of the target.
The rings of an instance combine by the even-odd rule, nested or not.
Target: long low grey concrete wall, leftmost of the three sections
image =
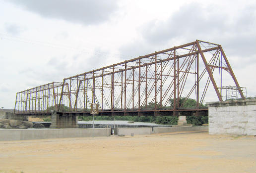
[[[9,129],[0,130],[0,141],[66,137],[110,136],[110,129]]]

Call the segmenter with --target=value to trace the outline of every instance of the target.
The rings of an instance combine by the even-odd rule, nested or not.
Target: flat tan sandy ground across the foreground
[[[255,173],[256,137],[201,133],[0,142],[0,173]]]

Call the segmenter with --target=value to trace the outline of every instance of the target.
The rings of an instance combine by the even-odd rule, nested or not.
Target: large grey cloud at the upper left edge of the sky
[[[107,20],[116,10],[115,0],[8,0],[42,17],[85,25]]]

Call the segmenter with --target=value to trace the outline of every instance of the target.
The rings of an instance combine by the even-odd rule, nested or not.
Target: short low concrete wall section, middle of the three
[[[117,128],[117,134],[151,134],[152,128]]]

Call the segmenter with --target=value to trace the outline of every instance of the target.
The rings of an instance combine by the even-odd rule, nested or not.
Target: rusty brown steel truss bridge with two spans
[[[200,107],[206,91],[222,101],[223,86],[245,98],[222,46],[196,40],[18,92],[14,113],[48,115],[65,105],[69,114],[89,115],[90,103],[97,103],[100,115],[198,115],[208,110]],[[189,98],[196,106],[187,109]]]

